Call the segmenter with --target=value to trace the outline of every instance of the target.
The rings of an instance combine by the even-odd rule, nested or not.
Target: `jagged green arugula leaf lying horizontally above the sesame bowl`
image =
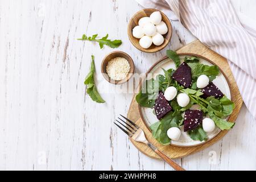
[[[109,46],[111,48],[118,48],[122,44],[122,40],[110,40],[110,39],[108,39],[109,34],[104,36],[104,38],[102,38],[102,39],[97,39],[97,37],[98,37],[98,34],[95,34],[95,35],[89,36],[89,37],[86,36],[86,35],[82,35],[82,38],[77,39],[77,40],[98,42],[100,44],[101,49],[104,48],[104,45]]]

